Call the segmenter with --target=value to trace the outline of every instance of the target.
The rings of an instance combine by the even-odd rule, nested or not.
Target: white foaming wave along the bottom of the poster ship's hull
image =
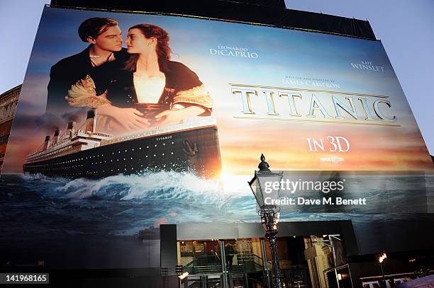
[[[70,199],[201,200],[204,204],[230,197],[223,192],[218,179],[208,180],[174,171],[115,175],[97,180],[79,178],[58,186],[55,191]]]

